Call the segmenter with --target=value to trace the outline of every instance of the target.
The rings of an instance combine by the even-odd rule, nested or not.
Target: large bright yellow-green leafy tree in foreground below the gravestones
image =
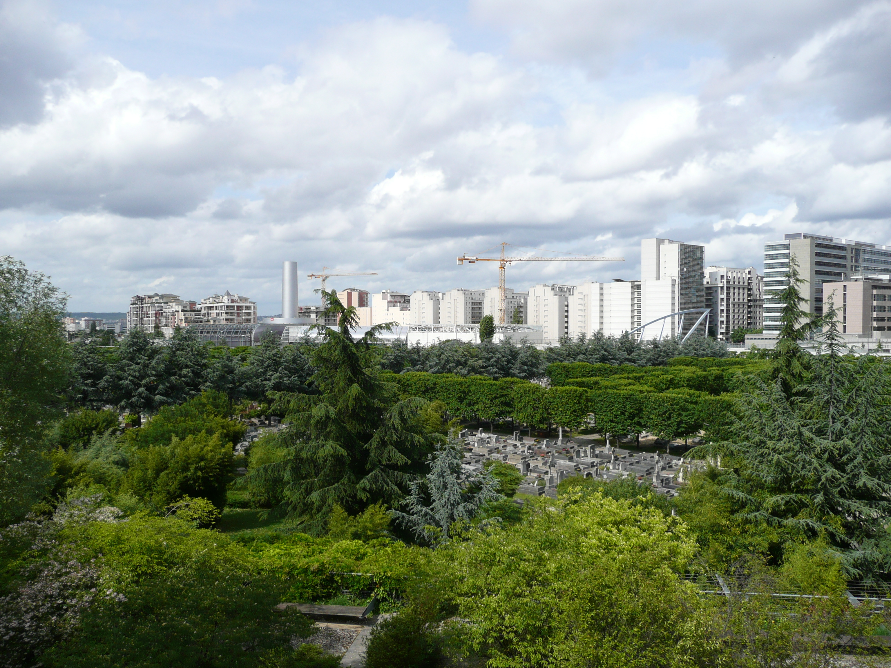
[[[657,509],[594,493],[436,550],[444,627],[490,665],[690,665],[709,654],[680,582],[695,545]]]

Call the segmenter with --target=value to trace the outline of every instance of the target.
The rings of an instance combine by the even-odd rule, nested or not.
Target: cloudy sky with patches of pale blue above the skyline
[[[527,289],[634,278],[651,236],[891,244],[889,62],[887,0],[0,0],[0,253],[73,311],[274,314],[282,260],[410,291],[496,284],[454,258],[503,240],[626,258]]]

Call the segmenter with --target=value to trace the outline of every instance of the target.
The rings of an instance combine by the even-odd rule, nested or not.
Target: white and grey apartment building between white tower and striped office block
[[[764,276],[755,267],[706,268],[706,307],[715,338],[730,342],[736,330],[764,327]]]

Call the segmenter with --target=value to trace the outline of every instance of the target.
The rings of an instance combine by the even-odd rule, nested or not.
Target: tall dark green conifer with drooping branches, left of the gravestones
[[[338,327],[318,325],[325,340],[308,351],[318,394],[270,393],[290,422],[281,436],[289,455],[243,478],[243,485],[277,485],[284,499],[278,510],[313,534],[323,533],[336,505],[350,514],[379,501],[396,505],[424,472],[436,440],[419,417],[426,402],[398,400],[396,385],[381,379],[372,343],[391,324],[355,340],[356,307],[341,304],[334,290],[324,298],[324,315],[338,317]]]

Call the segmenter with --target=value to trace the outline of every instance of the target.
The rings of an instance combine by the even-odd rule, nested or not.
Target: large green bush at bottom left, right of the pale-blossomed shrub
[[[97,601],[47,666],[240,666],[306,636],[301,615],[274,609],[286,589],[247,550],[176,519],[131,517],[66,527],[81,558],[100,558],[118,597]]]

